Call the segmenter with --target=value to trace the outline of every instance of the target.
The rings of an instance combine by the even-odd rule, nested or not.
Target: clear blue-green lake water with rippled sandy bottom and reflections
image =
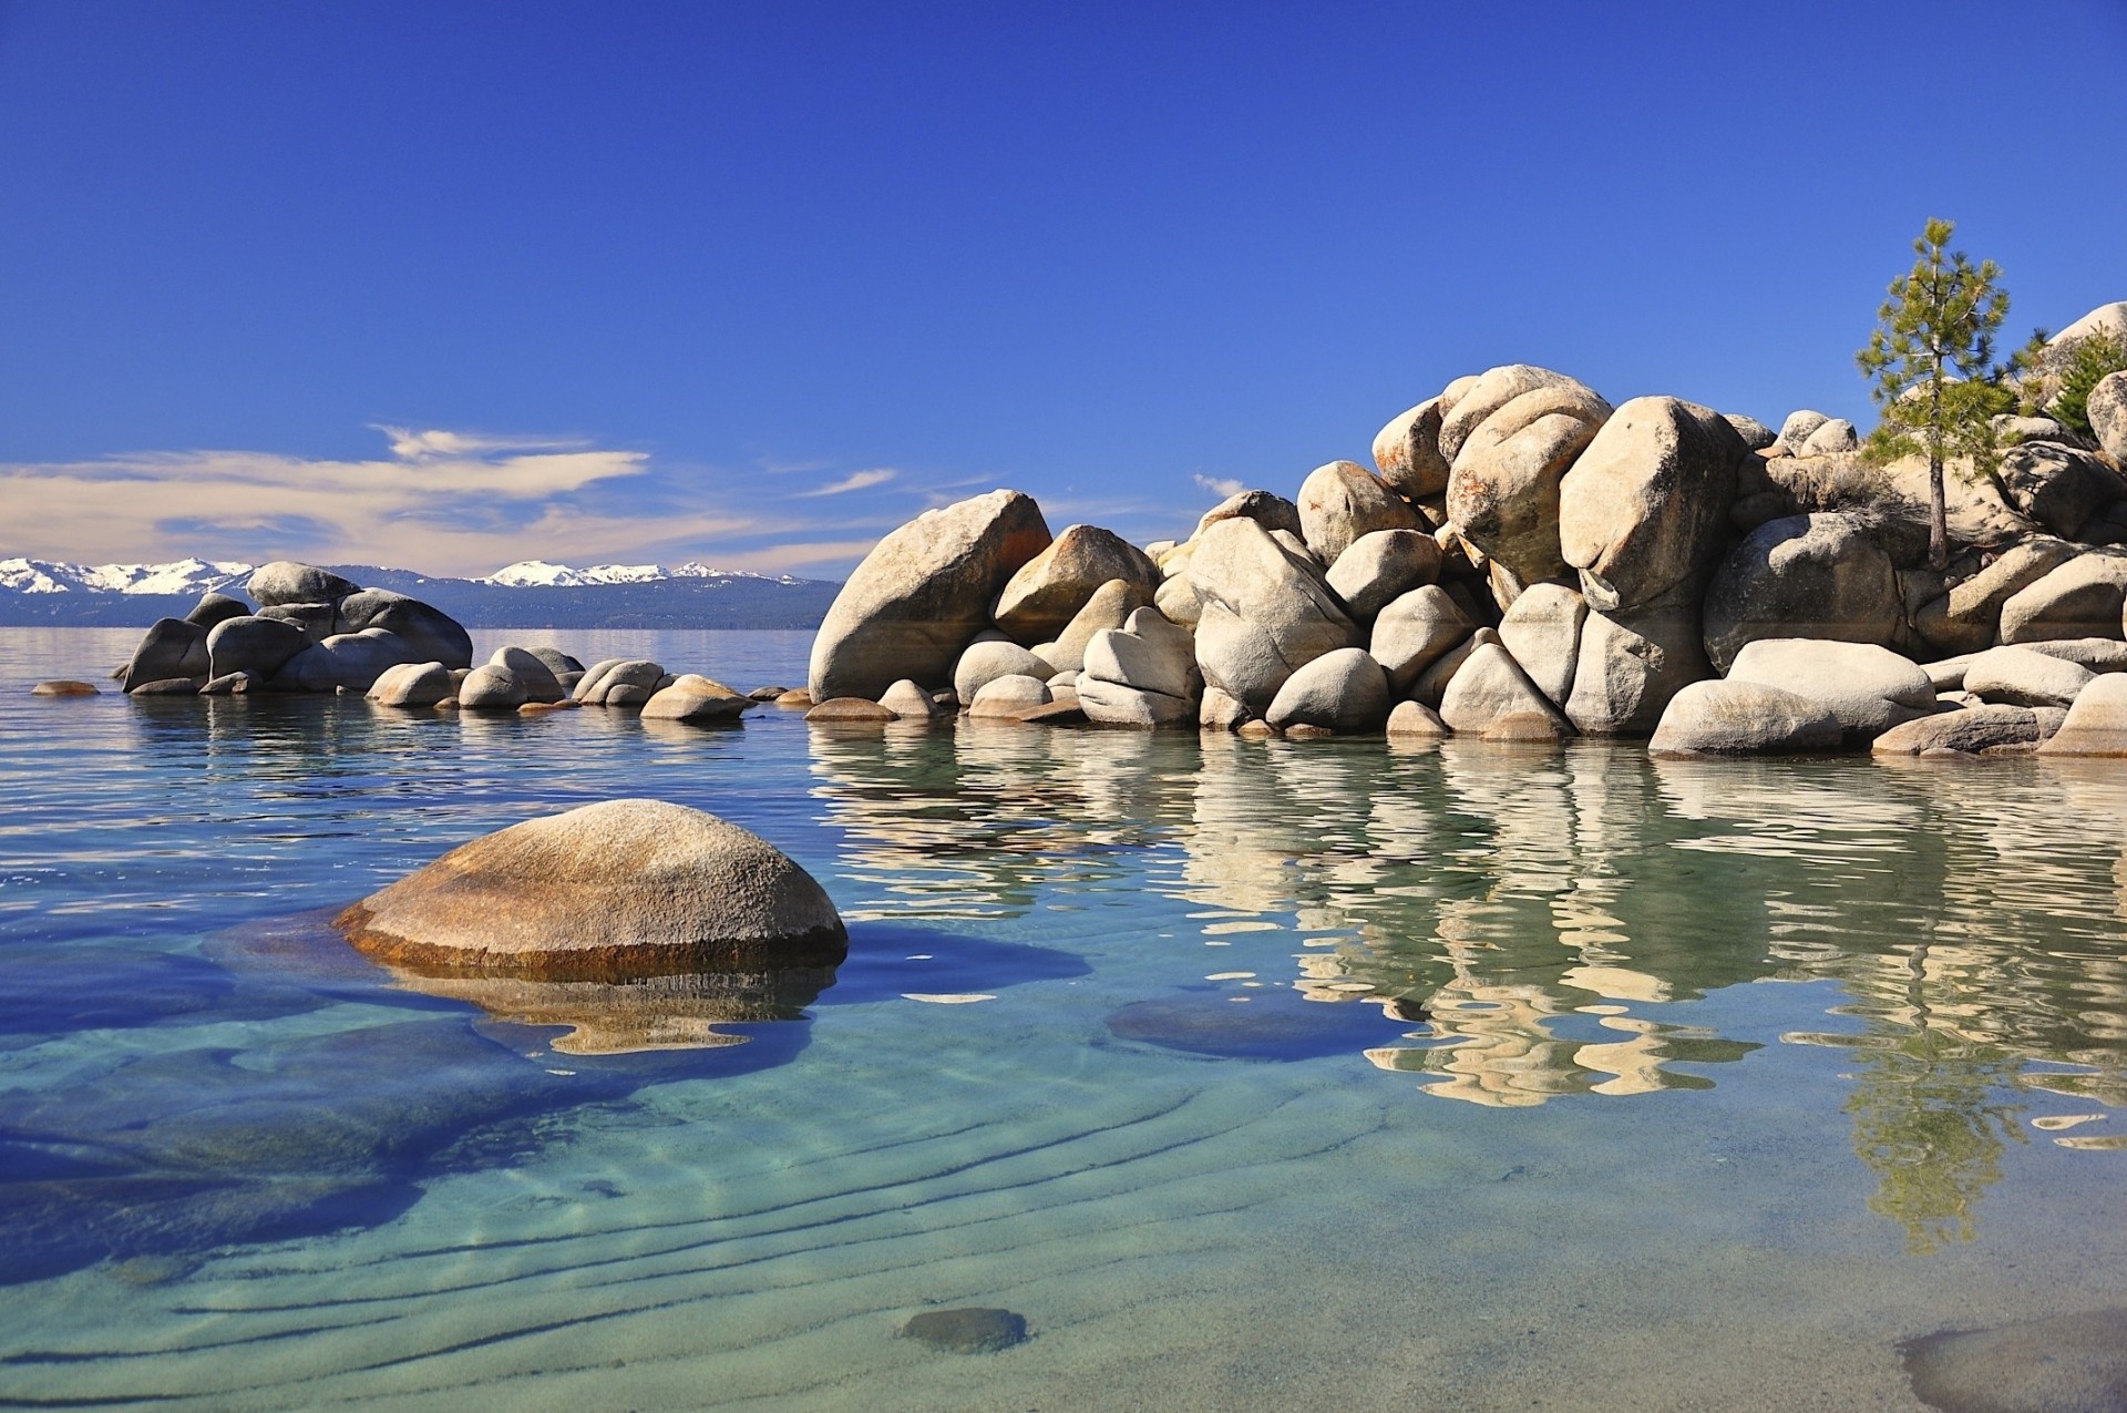
[[[2116,764],[28,696],[130,638],[0,630],[0,1404],[1912,1409],[2121,1302]],[[827,885],[804,1019],[570,1053],[317,924],[610,796]]]

